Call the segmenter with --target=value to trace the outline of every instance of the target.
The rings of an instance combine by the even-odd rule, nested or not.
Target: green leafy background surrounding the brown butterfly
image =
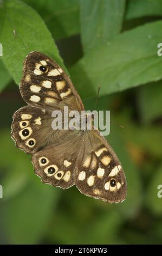
[[[0,1],[0,243],[162,242],[161,29],[160,0]],[[125,169],[124,203],[42,184],[15,147],[12,114],[25,105],[15,82],[34,50],[69,72],[86,109],[101,86],[96,109],[111,110],[107,139]]]

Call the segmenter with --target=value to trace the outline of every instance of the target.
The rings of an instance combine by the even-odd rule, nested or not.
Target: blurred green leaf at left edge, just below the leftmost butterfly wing
[[[9,130],[1,130],[0,139],[0,168],[1,175],[3,175],[1,183],[3,185],[3,200],[6,201],[15,197],[27,186],[33,174],[33,166],[29,156],[15,147]]]

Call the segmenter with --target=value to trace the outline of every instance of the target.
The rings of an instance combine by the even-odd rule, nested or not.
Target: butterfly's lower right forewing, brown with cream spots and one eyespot
[[[127,184],[118,157],[96,130],[87,131],[84,141],[87,143],[82,145],[76,161],[75,185],[87,196],[108,203],[122,202]]]

